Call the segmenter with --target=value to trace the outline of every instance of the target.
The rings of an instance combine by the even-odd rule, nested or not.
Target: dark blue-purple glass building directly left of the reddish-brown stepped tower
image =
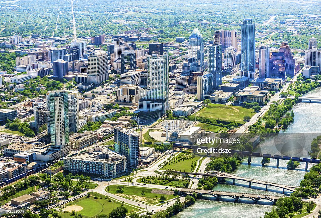
[[[286,77],[285,63],[283,52],[272,52],[270,56],[270,76],[284,79]]]

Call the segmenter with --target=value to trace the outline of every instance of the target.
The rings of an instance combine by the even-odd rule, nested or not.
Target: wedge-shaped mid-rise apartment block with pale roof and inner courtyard
[[[114,178],[125,173],[126,157],[109,150],[105,146],[96,146],[79,156],[65,157],[64,170],[71,173],[87,173]]]

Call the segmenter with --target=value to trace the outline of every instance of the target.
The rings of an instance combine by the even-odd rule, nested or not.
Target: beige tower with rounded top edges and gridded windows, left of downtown
[[[88,82],[99,84],[107,80],[108,55],[105,51],[93,52],[88,57]]]

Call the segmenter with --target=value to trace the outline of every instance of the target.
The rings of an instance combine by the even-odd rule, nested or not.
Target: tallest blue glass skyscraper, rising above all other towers
[[[243,19],[241,33],[241,70],[255,72],[255,25],[252,19]]]

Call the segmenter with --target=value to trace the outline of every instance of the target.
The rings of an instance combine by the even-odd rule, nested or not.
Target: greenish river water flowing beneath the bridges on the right
[[[321,87],[310,91],[304,96],[321,96]],[[318,103],[298,103],[293,107],[294,122],[283,131],[283,134],[296,134],[300,144],[311,144],[313,137],[321,135],[321,116]],[[314,133],[314,134],[304,134]],[[318,134],[319,133],[319,134]],[[287,135],[284,135],[287,137]],[[292,137],[292,135],[290,136]],[[303,142],[302,142],[303,140]],[[302,142],[302,143],[301,143]],[[275,150],[275,139],[266,138],[264,142],[260,143],[256,150],[271,152]],[[304,146],[303,146],[304,147]],[[307,149],[306,149],[307,150]],[[308,157],[307,151],[303,149],[301,151],[302,157]],[[301,156],[301,155],[298,155]],[[244,159],[237,170],[233,174],[252,178],[265,180],[269,182],[282,183],[287,185],[299,186],[300,181],[303,179],[305,172],[305,164],[301,164],[299,169],[287,170],[287,161],[280,160],[279,168],[276,168],[276,160],[271,159],[270,163],[265,164],[265,167],[261,166],[262,158],[251,158],[251,165],[247,164],[247,159]],[[310,168],[312,164],[309,164]],[[248,183],[237,182],[241,186],[232,185],[231,181],[227,181],[224,184],[218,184],[214,187],[214,190],[232,191],[232,192],[244,192],[244,193],[260,193],[262,195],[278,195],[282,196],[281,189],[268,189],[265,191],[265,187],[256,185],[259,189],[248,188]],[[252,187],[254,185],[252,184]],[[276,192],[271,192],[274,190]],[[290,194],[291,192],[286,192]],[[208,196],[208,199],[210,197]],[[214,200],[197,200],[194,205],[184,209],[183,212],[175,215],[175,218],[191,218],[197,216],[198,218],[259,218],[264,216],[265,211],[271,211],[272,204],[268,201],[263,201],[260,204],[244,204],[242,202],[251,202],[252,200],[239,200],[239,203],[233,202],[232,198],[226,197],[225,201]]]

